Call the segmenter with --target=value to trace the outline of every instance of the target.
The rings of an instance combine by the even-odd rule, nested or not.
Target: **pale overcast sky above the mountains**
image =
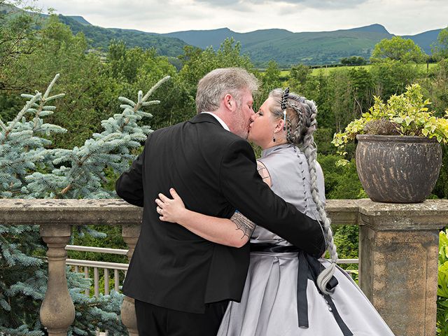
[[[155,33],[282,28],[332,31],[379,23],[395,35],[448,25],[448,0],[36,0],[92,25]]]

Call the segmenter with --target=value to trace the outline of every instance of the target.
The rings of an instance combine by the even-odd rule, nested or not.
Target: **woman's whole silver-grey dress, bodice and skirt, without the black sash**
[[[319,219],[311,199],[310,177],[303,153],[290,145],[279,145],[262,152],[260,161],[267,167],[272,190],[311,218]],[[321,200],[325,202],[323,172],[317,165],[317,184]],[[298,223],[297,223],[298,224]],[[257,227],[251,244],[269,243],[290,246],[264,228]],[[324,266],[329,262],[320,259]],[[378,312],[360,288],[342,269],[337,267],[338,281],[330,295],[333,307],[319,293],[314,281],[307,279],[308,328],[300,328],[297,318],[296,252],[253,252],[241,302],[230,302],[218,336],[342,336],[332,310],[356,336],[393,336]]]

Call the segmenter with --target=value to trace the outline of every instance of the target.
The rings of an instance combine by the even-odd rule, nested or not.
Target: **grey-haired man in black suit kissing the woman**
[[[251,221],[313,255],[324,249],[318,222],[277,197],[257,173],[248,142],[256,78],[216,69],[197,87],[199,114],[153,132],[116,183],[120,197],[144,208],[141,234],[123,293],[135,299],[140,336],[216,335],[229,300],[241,300],[249,246],[214,244],[181,225],[163,223],[158,193],[174,187],[190,210]]]

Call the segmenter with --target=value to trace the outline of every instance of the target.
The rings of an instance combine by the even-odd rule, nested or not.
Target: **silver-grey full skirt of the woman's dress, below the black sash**
[[[327,260],[321,259],[324,266]],[[230,302],[218,336],[343,336],[332,309],[308,279],[309,327],[297,318],[297,253],[253,252],[241,302]],[[339,282],[330,295],[355,336],[393,336],[356,283],[337,267]]]

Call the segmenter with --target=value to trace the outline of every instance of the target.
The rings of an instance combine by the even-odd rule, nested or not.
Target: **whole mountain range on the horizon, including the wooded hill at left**
[[[0,7],[0,13],[1,11],[5,11],[5,8]],[[225,38],[233,37],[235,41],[241,43],[241,52],[247,53],[256,66],[265,66],[270,59],[274,59],[280,66],[297,63],[334,64],[339,63],[342,57],[350,56],[362,56],[368,59],[374,45],[383,38],[395,36],[378,24],[336,31],[300,33],[285,29],[238,33],[222,28],[156,34],[134,29],[98,27],[91,25],[82,16],[59,15],[59,20],[68,25],[75,34],[82,31],[89,39],[92,48],[106,50],[110,41],[116,39],[125,41],[130,47],[155,48],[160,55],[169,57],[181,55],[186,45],[202,49],[212,46],[218,49]],[[402,37],[412,39],[430,54],[430,45],[437,41],[440,30],[442,29]]]

